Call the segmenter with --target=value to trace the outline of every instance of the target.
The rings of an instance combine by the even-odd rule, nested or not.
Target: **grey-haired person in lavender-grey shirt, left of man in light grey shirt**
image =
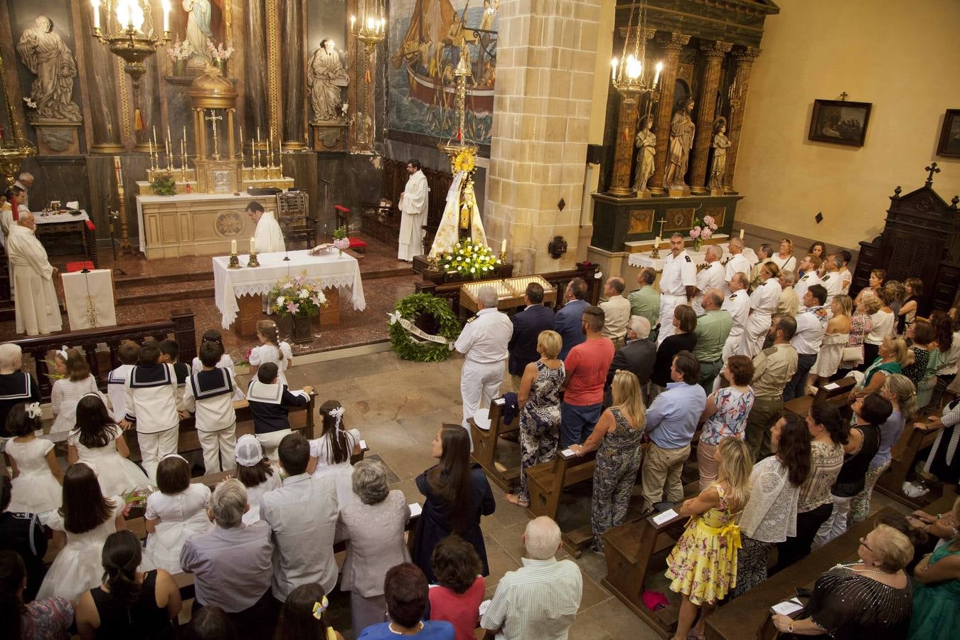
[[[274,545],[270,525],[244,524],[247,487],[235,478],[213,490],[207,515],[216,526],[183,543],[180,567],[194,575],[194,609],[219,606],[245,638],[269,638],[276,624],[270,587]]]

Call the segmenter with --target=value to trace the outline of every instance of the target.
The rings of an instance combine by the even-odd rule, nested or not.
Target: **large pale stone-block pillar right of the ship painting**
[[[576,262],[601,4],[500,3],[484,224],[491,247],[506,239],[516,274]],[[560,259],[546,250],[555,236]]]

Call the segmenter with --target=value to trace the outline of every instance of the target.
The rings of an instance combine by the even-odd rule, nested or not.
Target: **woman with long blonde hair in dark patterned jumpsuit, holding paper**
[[[640,383],[632,371],[618,369],[613,374],[612,397],[613,406],[600,415],[587,441],[570,446],[577,456],[598,449],[590,503],[590,548],[598,553],[603,553],[603,533],[627,518],[630,492],[640,468],[640,439],[647,415]]]

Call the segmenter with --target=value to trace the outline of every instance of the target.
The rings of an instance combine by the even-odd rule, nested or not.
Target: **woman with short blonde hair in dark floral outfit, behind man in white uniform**
[[[564,361],[557,358],[563,340],[556,331],[540,331],[540,360],[523,369],[516,402],[520,409],[520,490],[506,495],[507,502],[530,506],[527,469],[557,455],[560,443],[560,386],[564,384]]]

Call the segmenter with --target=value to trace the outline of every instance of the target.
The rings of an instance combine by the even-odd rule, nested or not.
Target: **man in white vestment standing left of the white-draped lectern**
[[[23,211],[7,239],[7,254],[14,267],[16,332],[28,336],[63,328],[53,279],[58,270],[47,260],[46,249],[34,235],[35,228],[34,214]]]

